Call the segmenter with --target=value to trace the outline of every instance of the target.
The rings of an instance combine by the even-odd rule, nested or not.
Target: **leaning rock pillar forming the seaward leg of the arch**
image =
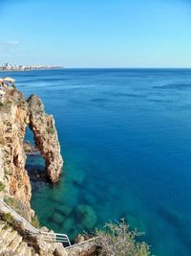
[[[40,98],[32,95],[29,99],[30,128],[36,147],[46,161],[46,170],[53,182],[57,182],[63,165],[60,145],[52,115],[45,113]]]

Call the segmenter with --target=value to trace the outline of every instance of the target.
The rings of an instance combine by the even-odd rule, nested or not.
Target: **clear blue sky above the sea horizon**
[[[0,0],[0,63],[191,67],[188,0]]]

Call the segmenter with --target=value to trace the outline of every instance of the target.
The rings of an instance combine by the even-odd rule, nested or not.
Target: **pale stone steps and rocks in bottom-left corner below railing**
[[[43,235],[33,236],[12,217],[5,221],[0,213],[0,255],[2,256],[68,256],[63,244],[46,242]],[[49,230],[46,230],[49,231]]]

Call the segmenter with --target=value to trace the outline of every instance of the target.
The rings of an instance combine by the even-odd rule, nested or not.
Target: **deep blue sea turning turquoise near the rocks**
[[[56,122],[61,182],[32,183],[42,224],[73,239],[125,217],[156,255],[191,255],[191,70],[7,74],[26,97],[38,94]],[[88,211],[84,222],[78,205]]]

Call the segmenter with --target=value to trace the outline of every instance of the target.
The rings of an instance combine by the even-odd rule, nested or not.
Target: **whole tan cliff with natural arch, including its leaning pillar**
[[[34,142],[45,158],[46,170],[58,181],[63,164],[53,116],[47,115],[41,100],[32,95],[29,101],[16,89],[4,85],[0,101],[0,182],[4,191],[30,208],[31,184],[25,170],[23,142],[29,125]]]

